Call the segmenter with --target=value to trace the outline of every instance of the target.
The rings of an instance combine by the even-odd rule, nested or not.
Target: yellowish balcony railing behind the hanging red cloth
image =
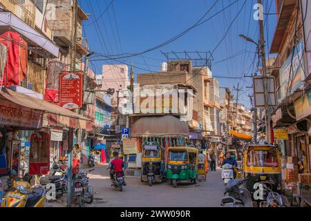
[[[41,66],[28,61],[27,77],[21,82],[21,86],[44,95],[45,85],[46,70]]]

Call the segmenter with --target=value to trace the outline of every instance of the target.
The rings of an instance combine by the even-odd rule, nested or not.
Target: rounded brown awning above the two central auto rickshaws
[[[189,137],[186,122],[177,117],[142,117],[133,124],[131,137]]]

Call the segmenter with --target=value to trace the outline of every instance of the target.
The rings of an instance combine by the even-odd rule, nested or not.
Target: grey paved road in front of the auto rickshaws
[[[149,186],[140,182],[140,177],[126,177],[127,186],[120,192],[111,186],[106,166],[97,166],[89,173],[90,184],[94,187],[94,202],[97,207],[216,207],[223,197],[223,183],[220,171],[209,171],[207,182],[197,184],[179,184],[174,189],[169,183]],[[62,202],[51,202],[48,206],[66,206],[66,197]]]

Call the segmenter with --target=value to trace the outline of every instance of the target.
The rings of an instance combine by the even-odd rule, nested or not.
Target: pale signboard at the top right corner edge
[[[301,0],[301,13],[303,20],[303,36],[305,39],[305,50],[311,52],[311,10],[308,0]]]

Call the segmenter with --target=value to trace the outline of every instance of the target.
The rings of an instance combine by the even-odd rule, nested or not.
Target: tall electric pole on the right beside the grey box
[[[258,0],[258,4],[262,6],[262,1]],[[261,11],[260,13],[263,13]],[[265,61],[265,33],[263,27],[263,19],[259,19],[259,31],[260,31],[260,44],[261,44],[261,60],[262,60],[262,67],[263,67],[263,90],[265,92],[265,135],[267,137],[267,142],[271,143],[271,128],[270,128],[270,113],[269,113],[269,104],[268,104],[268,97],[269,91],[267,86],[267,68],[266,68],[266,61]]]

